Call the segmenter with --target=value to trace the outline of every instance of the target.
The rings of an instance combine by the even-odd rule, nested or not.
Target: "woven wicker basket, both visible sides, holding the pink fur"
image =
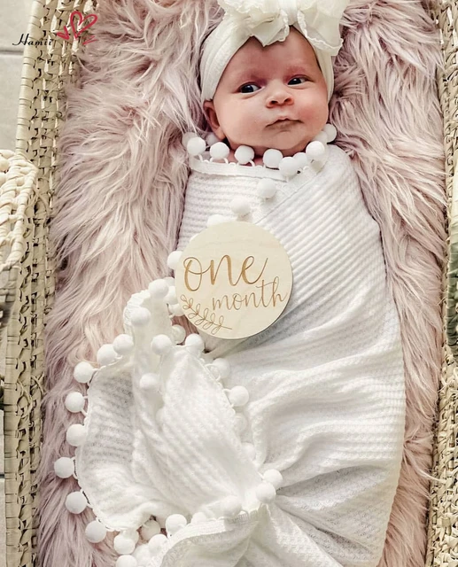
[[[47,226],[57,182],[56,142],[65,115],[62,86],[78,72],[76,54],[81,44],[67,42],[54,32],[69,24],[74,10],[89,14],[96,7],[97,0],[34,1],[27,29],[32,44],[24,50],[16,151],[0,151],[0,402],[4,404],[7,567],[37,563],[35,471],[41,435],[43,322],[54,293]],[[458,156],[457,12],[458,4],[452,0],[441,2],[431,12],[442,33],[446,61],[446,74],[439,74],[438,85],[444,114],[450,237],[433,468],[438,480],[431,485],[426,567],[458,567],[458,375],[454,362],[454,356],[458,358],[458,209],[454,210],[458,183],[453,190]]]

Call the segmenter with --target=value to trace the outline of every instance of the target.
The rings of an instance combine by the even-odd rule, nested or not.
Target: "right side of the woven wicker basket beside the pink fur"
[[[434,436],[434,462],[428,524],[426,567],[458,567],[458,3],[440,2],[433,17],[442,40],[445,72],[438,74],[440,105],[444,116],[446,194],[449,237],[444,274],[443,364],[439,384],[439,415]]]

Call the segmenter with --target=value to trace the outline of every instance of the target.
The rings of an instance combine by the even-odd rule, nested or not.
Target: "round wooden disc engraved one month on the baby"
[[[283,313],[291,262],[268,230],[221,222],[190,240],[175,269],[175,292],[192,324],[218,338],[251,337]]]

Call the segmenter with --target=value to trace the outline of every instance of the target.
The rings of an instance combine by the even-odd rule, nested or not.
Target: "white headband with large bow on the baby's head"
[[[284,42],[295,27],[312,45],[328,86],[334,90],[331,56],[342,46],[339,23],[348,0],[218,0],[225,10],[207,37],[200,59],[201,102],[212,100],[230,59],[250,37],[266,47]]]

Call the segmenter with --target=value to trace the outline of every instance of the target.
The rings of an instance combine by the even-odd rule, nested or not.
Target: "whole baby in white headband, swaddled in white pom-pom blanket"
[[[125,356],[91,381],[79,482],[121,532],[118,567],[376,567],[405,392],[380,231],[351,160],[327,144],[345,4],[223,5],[201,64],[220,145],[187,140],[177,249],[245,198],[289,256],[291,298],[252,337],[198,330],[202,356],[195,340],[172,346],[164,281],[132,298],[134,342],[118,341]],[[259,190],[266,180],[275,191]]]

